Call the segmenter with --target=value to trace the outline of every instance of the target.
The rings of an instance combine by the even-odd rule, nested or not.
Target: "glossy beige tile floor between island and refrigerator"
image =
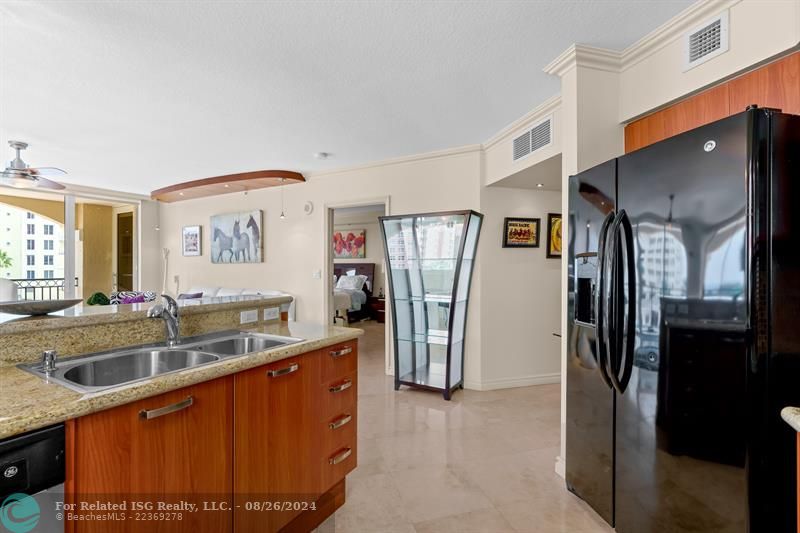
[[[384,374],[383,325],[360,341],[358,468],[320,533],[611,532],[554,471],[559,387],[436,393]]]

